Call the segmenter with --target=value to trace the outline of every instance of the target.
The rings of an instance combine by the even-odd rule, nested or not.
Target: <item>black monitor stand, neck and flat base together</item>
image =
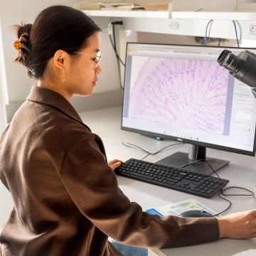
[[[194,163],[195,161],[197,162]],[[229,162],[230,161],[206,157],[206,147],[189,144],[188,154],[178,151],[171,154],[171,156],[167,156],[166,158],[157,161],[157,164],[174,166],[176,168],[181,168],[181,166],[188,164],[187,166],[184,166],[183,169],[193,171],[198,174],[209,175],[226,166]],[[207,163],[210,164],[213,169],[211,169]]]

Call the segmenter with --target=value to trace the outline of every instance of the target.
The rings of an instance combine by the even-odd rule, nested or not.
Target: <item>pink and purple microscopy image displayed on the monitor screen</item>
[[[216,61],[134,56],[132,67],[129,118],[223,134],[228,73]]]

